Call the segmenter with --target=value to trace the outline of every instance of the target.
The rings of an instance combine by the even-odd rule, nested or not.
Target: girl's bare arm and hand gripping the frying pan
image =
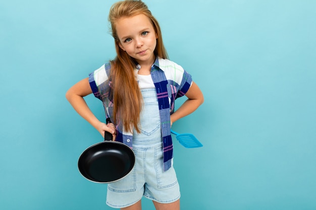
[[[104,131],[109,131],[113,134],[113,141],[116,137],[116,128],[113,123],[106,124],[99,121],[91,112],[83,97],[92,93],[88,78],[79,81],[72,86],[66,93],[66,98],[73,108],[87,120],[97,131],[104,137]]]

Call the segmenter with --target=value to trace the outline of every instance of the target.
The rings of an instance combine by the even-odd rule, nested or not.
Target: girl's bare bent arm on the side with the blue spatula
[[[204,101],[201,90],[194,82],[192,82],[192,85],[185,96],[188,97],[188,100],[186,100],[179,109],[170,116],[171,125],[178,119],[194,112]]]

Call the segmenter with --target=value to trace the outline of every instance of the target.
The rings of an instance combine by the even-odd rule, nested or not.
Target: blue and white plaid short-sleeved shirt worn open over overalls
[[[89,83],[94,96],[103,102],[106,117],[113,117],[113,99],[109,75],[111,64],[106,63],[89,74]],[[135,69],[135,75],[138,69]],[[173,144],[170,132],[170,114],[174,112],[175,100],[189,90],[192,79],[180,65],[167,59],[156,58],[151,66],[150,75],[154,83],[159,104],[161,129],[164,145],[164,170],[172,165]],[[137,77],[135,77],[137,78]],[[122,123],[117,125],[116,141],[132,148],[133,133],[125,131]]]

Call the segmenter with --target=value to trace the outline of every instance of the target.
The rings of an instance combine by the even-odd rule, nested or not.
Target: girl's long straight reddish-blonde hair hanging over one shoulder
[[[163,38],[159,23],[151,15],[148,7],[141,1],[126,0],[115,3],[109,14],[109,22],[111,24],[112,36],[115,41],[117,56],[111,60],[112,94],[113,94],[113,113],[114,120],[123,123],[123,127],[127,131],[135,130],[139,133],[138,127],[139,115],[142,107],[142,95],[135,79],[134,69],[136,62],[134,58],[129,56],[119,46],[120,40],[116,31],[116,23],[120,18],[132,17],[144,14],[147,16],[157,34],[156,47],[154,55],[167,59],[168,54],[163,44]]]

